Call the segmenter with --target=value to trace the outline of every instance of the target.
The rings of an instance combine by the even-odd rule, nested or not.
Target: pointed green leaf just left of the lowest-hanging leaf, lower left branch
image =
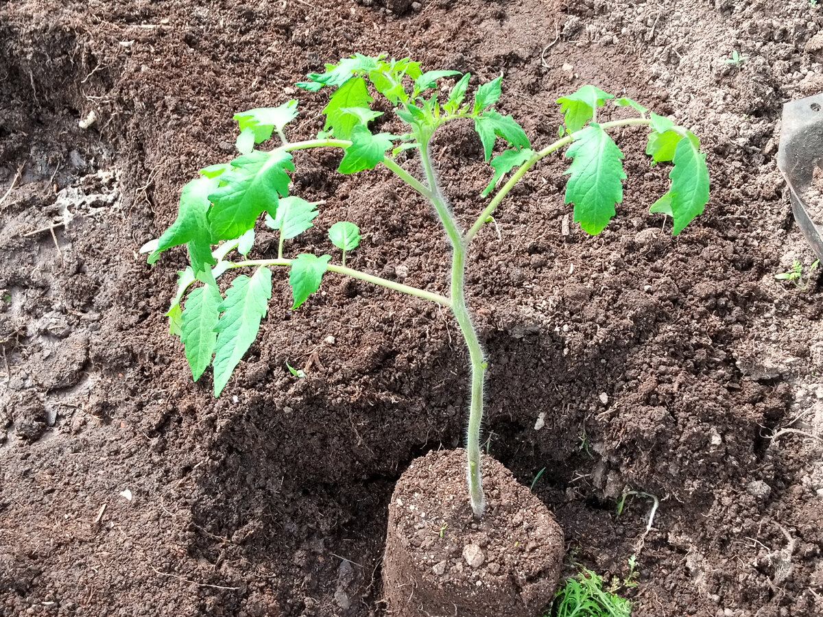
[[[191,291],[186,298],[186,308],[181,315],[180,340],[197,381],[206,367],[212,363],[217,333],[214,328],[220,318],[223,296],[215,285],[203,285]]]

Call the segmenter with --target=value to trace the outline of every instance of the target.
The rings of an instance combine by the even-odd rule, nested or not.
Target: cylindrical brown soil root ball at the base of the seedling
[[[486,514],[472,516],[466,451],[412,462],[388,507],[384,596],[393,617],[528,617],[551,601],[563,532],[546,506],[483,455]]]

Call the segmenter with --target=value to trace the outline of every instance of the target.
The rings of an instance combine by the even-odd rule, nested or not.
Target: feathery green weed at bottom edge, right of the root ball
[[[568,579],[555,595],[546,617],[630,617],[632,602],[617,594],[621,587],[636,587],[635,555],[629,559],[629,574],[604,587],[603,579],[588,568]]]

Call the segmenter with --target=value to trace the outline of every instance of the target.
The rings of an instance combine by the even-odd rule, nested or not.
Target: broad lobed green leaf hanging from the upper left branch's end
[[[208,196],[214,206],[208,213],[214,240],[239,238],[254,226],[258,216],[277,210],[277,196],[288,193],[289,174],[294,170],[291,154],[278,148],[253,151],[231,161],[221,174],[221,186]]]

